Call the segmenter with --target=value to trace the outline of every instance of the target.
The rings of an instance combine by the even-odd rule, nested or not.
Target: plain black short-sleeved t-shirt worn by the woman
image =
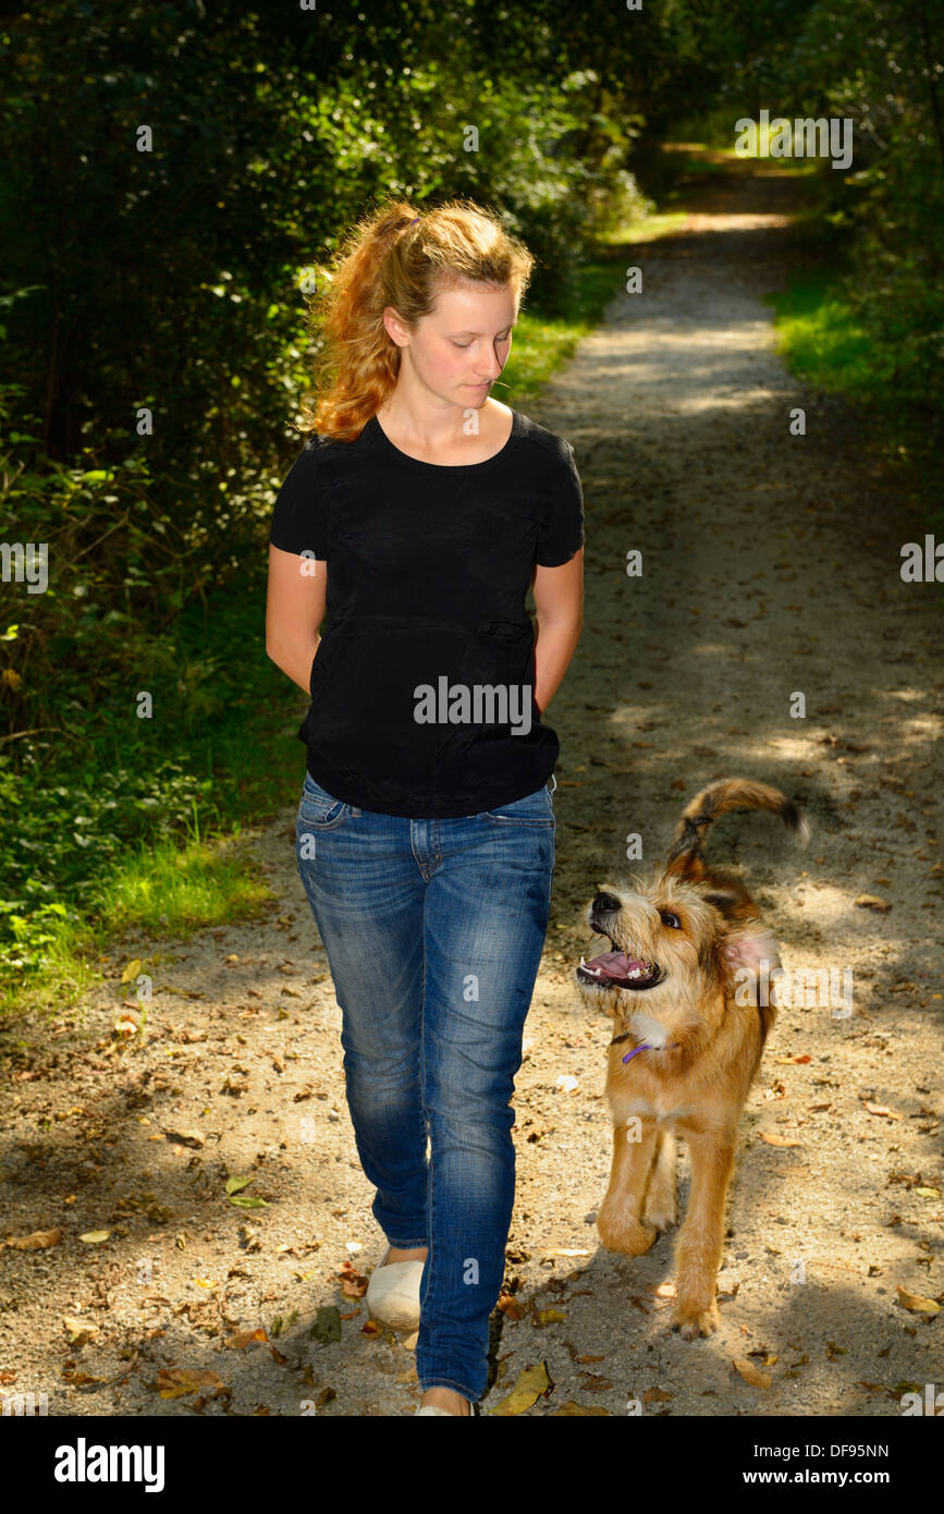
[[[408,457],[372,416],[312,436],[269,540],[327,560],[327,627],[298,731],[312,778],[386,815],[478,815],[540,789],[560,743],[534,704],[534,563],[584,540],[573,448],[513,412],[481,463]]]

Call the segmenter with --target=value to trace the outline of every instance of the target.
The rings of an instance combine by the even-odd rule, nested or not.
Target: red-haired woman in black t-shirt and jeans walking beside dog
[[[533,263],[469,201],[356,227],[269,537],[266,651],[312,699],[298,869],[389,1243],[368,1304],[419,1326],[419,1414],[486,1390],[554,872],[542,716],[582,625],[573,450],[489,397]]]

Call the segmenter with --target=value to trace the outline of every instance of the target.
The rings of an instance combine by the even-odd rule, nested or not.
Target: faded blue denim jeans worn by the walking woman
[[[354,808],[306,774],[298,807],[298,872],[342,1010],[374,1217],[392,1246],[430,1248],[419,1384],[472,1403],[514,1202],[508,1101],[551,908],[551,793],[410,819]]]

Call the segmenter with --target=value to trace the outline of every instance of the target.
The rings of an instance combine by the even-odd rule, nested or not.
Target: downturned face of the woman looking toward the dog
[[[407,366],[440,400],[478,409],[508,360],[517,298],[511,285],[464,285],[443,289],[415,327],[384,315],[393,316],[387,332],[402,351],[401,377]]]

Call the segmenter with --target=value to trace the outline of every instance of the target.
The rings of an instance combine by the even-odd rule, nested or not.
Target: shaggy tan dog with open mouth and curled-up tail
[[[806,839],[806,822],[776,789],[746,778],[710,784],[682,812],[661,877],[638,893],[596,895],[587,922],[613,951],[576,969],[584,1002],[620,1022],[607,1069],[614,1151],[596,1220],[604,1246],[638,1257],[675,1225],[675,1132],[688,1142],[672,1314],[687,1340],[719,1325],[737,1122],[776,1013],[767,974],[781,966],[778,943],[741,883],[702,860],[711,822],[743,808],[772,810]]]

